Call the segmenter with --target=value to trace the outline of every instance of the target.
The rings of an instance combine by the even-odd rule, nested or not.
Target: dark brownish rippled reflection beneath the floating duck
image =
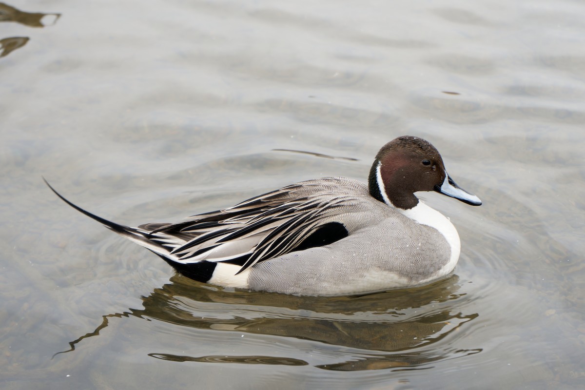
[[[143,310],[104,316],[94,332],[71,341],[69,352],[97,336],[112,317],[137,316],[198,329],[295,337],[355,348],[351,361],[316,365],[325,370],[415,369],[433,361],[478,353],[438,343],[477,313],[462,313],[449,301],[460,298],[457,277],[421,288],[355,297],[300,297],[211,288],[177,275],[143,298]],[[439,346],[441,344],[442,346]],[[221,351],[220,351],[221,352]],[[271,356],[149,356],[170,361],[306,365],[304,360]]]

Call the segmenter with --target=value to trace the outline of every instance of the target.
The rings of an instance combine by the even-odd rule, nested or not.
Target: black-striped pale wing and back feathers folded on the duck
[[[177,263],[226,261],[241,265],[242,272],[295,250],[320,227],[336,222],[339,209],[357,201],[327,189],[322,182],[290,185],[228,209],[159,227],[149,239],[167,247]],[[343,238],[347,232],[338,236]]]

